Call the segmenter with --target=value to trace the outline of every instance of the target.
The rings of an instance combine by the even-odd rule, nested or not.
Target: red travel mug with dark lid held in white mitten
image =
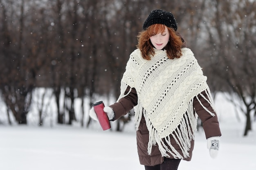
[[[110,127],[108,115],[106,114],[106,112],[103,111],[103,108],[105,107],[103,101],[93,103],[92,106],[98,117],[99,124],[101,125],[102,130],[110,129],[111,127]]]

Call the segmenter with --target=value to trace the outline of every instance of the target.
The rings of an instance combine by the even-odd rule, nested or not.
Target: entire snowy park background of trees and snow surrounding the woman
[[[174,14],[211,92],[239,97],[236,105],[254,114],[255,0],[0,0],[0,170],[144,169],[132,121],[116,132],[116,122],[102,131],[81,120],[94,100],[118,97],[136,35],[156,8]],[[256,170],[256,122],[243,137],[245,115],[223,95],[215,101],[218,158],[199,129],[192,161],[179,170]]]

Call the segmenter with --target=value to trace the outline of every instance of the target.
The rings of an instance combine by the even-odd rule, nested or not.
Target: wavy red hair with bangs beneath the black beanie
[[[150,37],[159,34],[164,33],[165,31],[165,25],[162,24],[154,24],[148,27],[148,29],[143,30],[139,32],[138,37],[138,45],[136,46],[141,51],[141,55],[144,59],[150,60],[151,56],[154,56],[154,46],[150,41]],[[181,53],[181,47],[182,47],[182,39],[180,36],[177,35],[176,31],[174,31],[173,28],[167,27],[170,38],[169,42],[167,43],[165,49],[168,58],[174,59],[174,58],[180,58],[182,56]]]

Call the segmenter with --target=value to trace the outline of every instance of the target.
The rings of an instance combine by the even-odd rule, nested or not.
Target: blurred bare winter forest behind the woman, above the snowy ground
[[[0,125],[27,125],[33,114],[39,126],[90,127],[91,104],[118,98],[153,9],[174,14],[213,97],[222,92],[243,113],[247,136],[256,117],[254,0],[0,0]]]

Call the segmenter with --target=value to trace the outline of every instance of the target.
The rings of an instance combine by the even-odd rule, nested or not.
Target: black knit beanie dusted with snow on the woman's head
[[[143,29],[146,30],[150,25],[163,24],[166,27],[173,28],[177,31],[177,23],[171,12],[166,12],[162,9],[153,10],[148,15],[148,18],[143,24]]]

